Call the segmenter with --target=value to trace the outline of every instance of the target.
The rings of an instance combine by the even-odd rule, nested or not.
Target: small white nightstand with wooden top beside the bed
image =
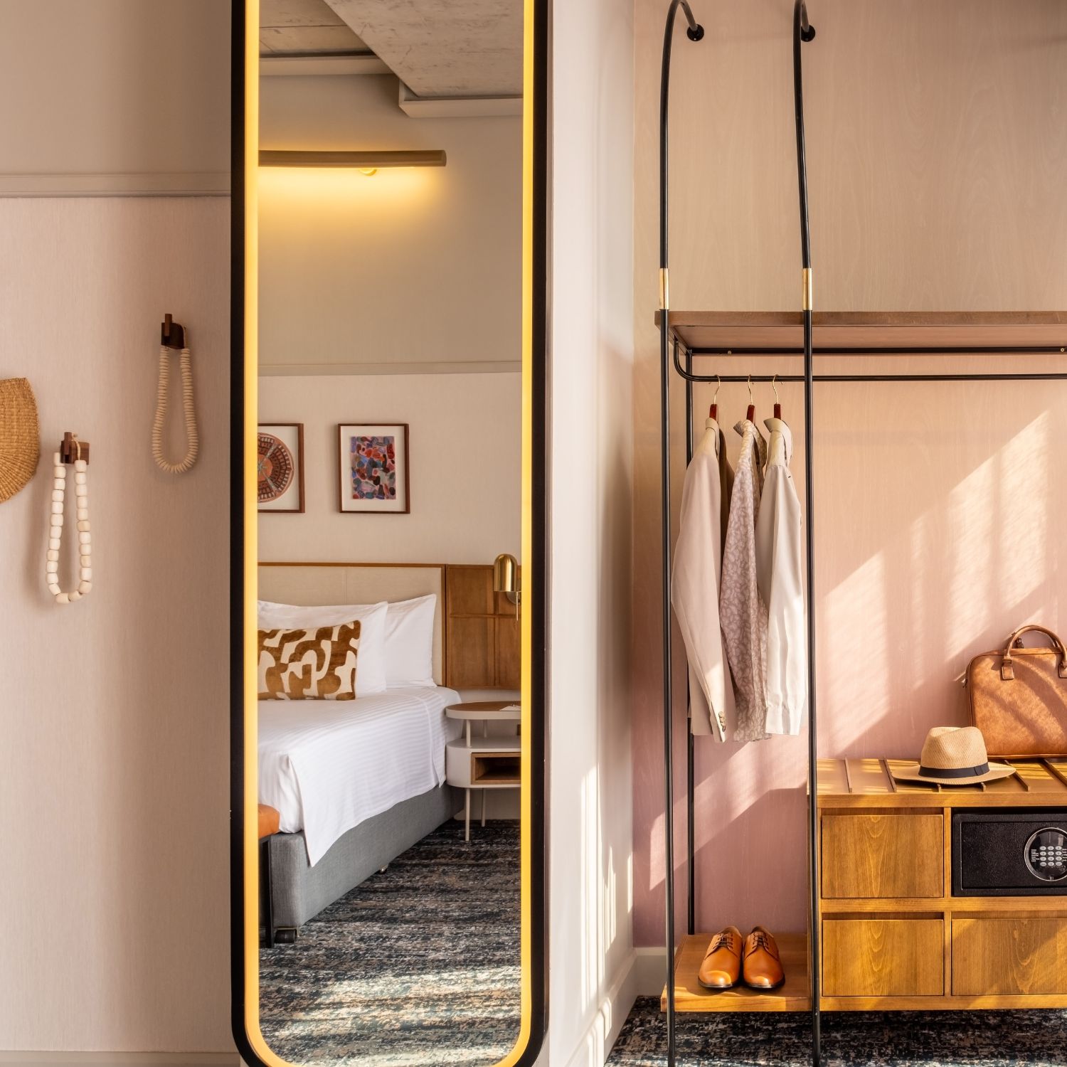
[[[471,840],[471,791],[481,791],[481,825],[485,825],[485,791],[516,790],[522,779],[522,737],[519,723],[522,712],[503,701],[475,701],[445,708],[450,719],[462,719],[463,736],[450,742],[445,750],[445,779],[464,791],[463,840]],[[471,724],[482,724],[481,736],[472,737]],[[514,722],[513,736],[488,736],[490,722]]]

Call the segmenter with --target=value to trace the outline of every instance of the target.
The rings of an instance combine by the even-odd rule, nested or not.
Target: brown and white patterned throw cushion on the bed
[[[355,700],[360,622],[259,631],[260,700]]]

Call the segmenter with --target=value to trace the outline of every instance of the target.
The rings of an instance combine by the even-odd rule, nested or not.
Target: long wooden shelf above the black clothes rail
[[[669,312],[671,331],[691,348],[800,348],[800,312]],[[659,313],[656,313],[656,324]],[[815,349],[1067,347],[1067,312],[815,312]]]

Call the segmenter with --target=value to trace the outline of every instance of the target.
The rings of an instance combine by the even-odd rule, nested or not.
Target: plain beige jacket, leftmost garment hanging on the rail
[[[722,493],[715,419],[692,453],[682,488],[682,515],[674,548],[671,603],[689,660],[690,729],[724,740],[733,733],[734,700],[719,626],[722,571]]]

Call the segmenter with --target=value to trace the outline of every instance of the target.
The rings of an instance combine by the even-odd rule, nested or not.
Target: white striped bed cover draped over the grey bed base
[[[259,802],[304,831],[317,863],[353,826],[445,780],[455,689],[403,686],[355,700],[260,700]]]

